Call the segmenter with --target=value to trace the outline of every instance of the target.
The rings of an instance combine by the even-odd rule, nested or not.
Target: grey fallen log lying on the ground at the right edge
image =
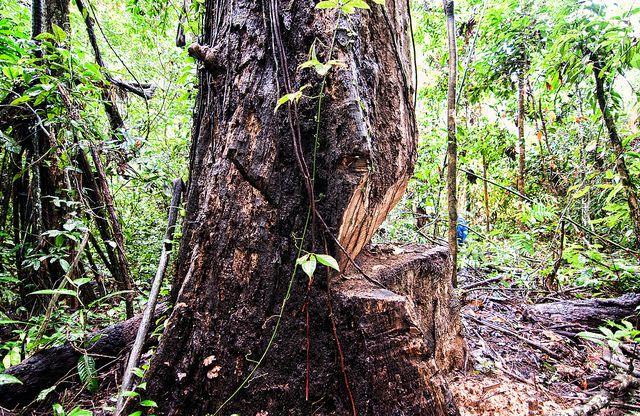
[[[627,293],[617,298],[567,300],[541,303],[527,309],[527,316],[532,320],[550,320],[571,322],[595,327],[607,320],[618,321],[637,313],[640,306],[640,294]]]

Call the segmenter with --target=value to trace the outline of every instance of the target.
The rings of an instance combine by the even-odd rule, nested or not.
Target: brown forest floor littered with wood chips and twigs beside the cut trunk
[[[462,274],[462,287],[486,279],[473,270]],[[575,297],[553,298],[560,299]],[[620,370],[603,361],[607,348],[571,336],[577,328],[569,323],[547,325],[527,318],[527,305],[548,297],[492,282],[465,291],[462,300],[468,358],[463,371],[452,374],[449,382],[463,416],[554,415],[609,394]],[[637,392],[588,414],[635,412],[640,412]]]

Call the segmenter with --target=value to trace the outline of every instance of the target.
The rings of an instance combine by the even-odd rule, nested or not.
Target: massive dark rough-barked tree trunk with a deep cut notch
[[[446,386],[427,363],[435,348],[412,343],[423,339],[411,325],[414,298],[378,289],[375,300],[352,302],[340,275],[292,277],[300,246],[327,251],[342,268],[356,257],[403,194],[417,142],[407,2],[371,3],[338,18],[332,59],[345,67],[332,69],[324,89],[315,180],[301,174],[292,137],[313,172],[317,99],[274,108],[305,84],[305,94],[321,93],[319,76],[296,69],[316,39],[319,59],[329,59],[337,16],[315,3],[206,2],[201,45],[190,48],[203,67],[176,305],[148,374],[159,414],[447,412],[435,392]],[[319,214],[311,219],[310,194]],[[358,273],[352,280],[370,285]],[[426,306],[449,310],[449,283],[436,280],[442,298]],[[367,349],[359,319],[378,313],[371,330],[393,343]],[[457,336],[457,318],[447,322],[450,331],[425,332]],[[420,390],[400,394],[403,380]]]

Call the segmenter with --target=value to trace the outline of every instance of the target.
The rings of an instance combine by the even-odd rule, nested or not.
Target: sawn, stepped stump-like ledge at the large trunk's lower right
[[[448,250],[374,246],[357,262],[387,288],[353,272],[333,292],[354,398],[366,403],[361,414],[458,414],[441,377],[465,354]]]

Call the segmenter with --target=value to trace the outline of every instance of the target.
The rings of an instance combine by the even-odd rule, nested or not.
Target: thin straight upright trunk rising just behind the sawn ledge
[[[457,197],[457,165],[458,142],[456,140],[456,79],[458,76],[458,53],[456,46],[456,23],[453,0],[443,0],[447,17],[447,38],[449,43],[449,84],[447,91],[447,208],[449,213],[449,229],[447,232],[451,263],[453,270],[451,282],[458,285],[458,197]]]

